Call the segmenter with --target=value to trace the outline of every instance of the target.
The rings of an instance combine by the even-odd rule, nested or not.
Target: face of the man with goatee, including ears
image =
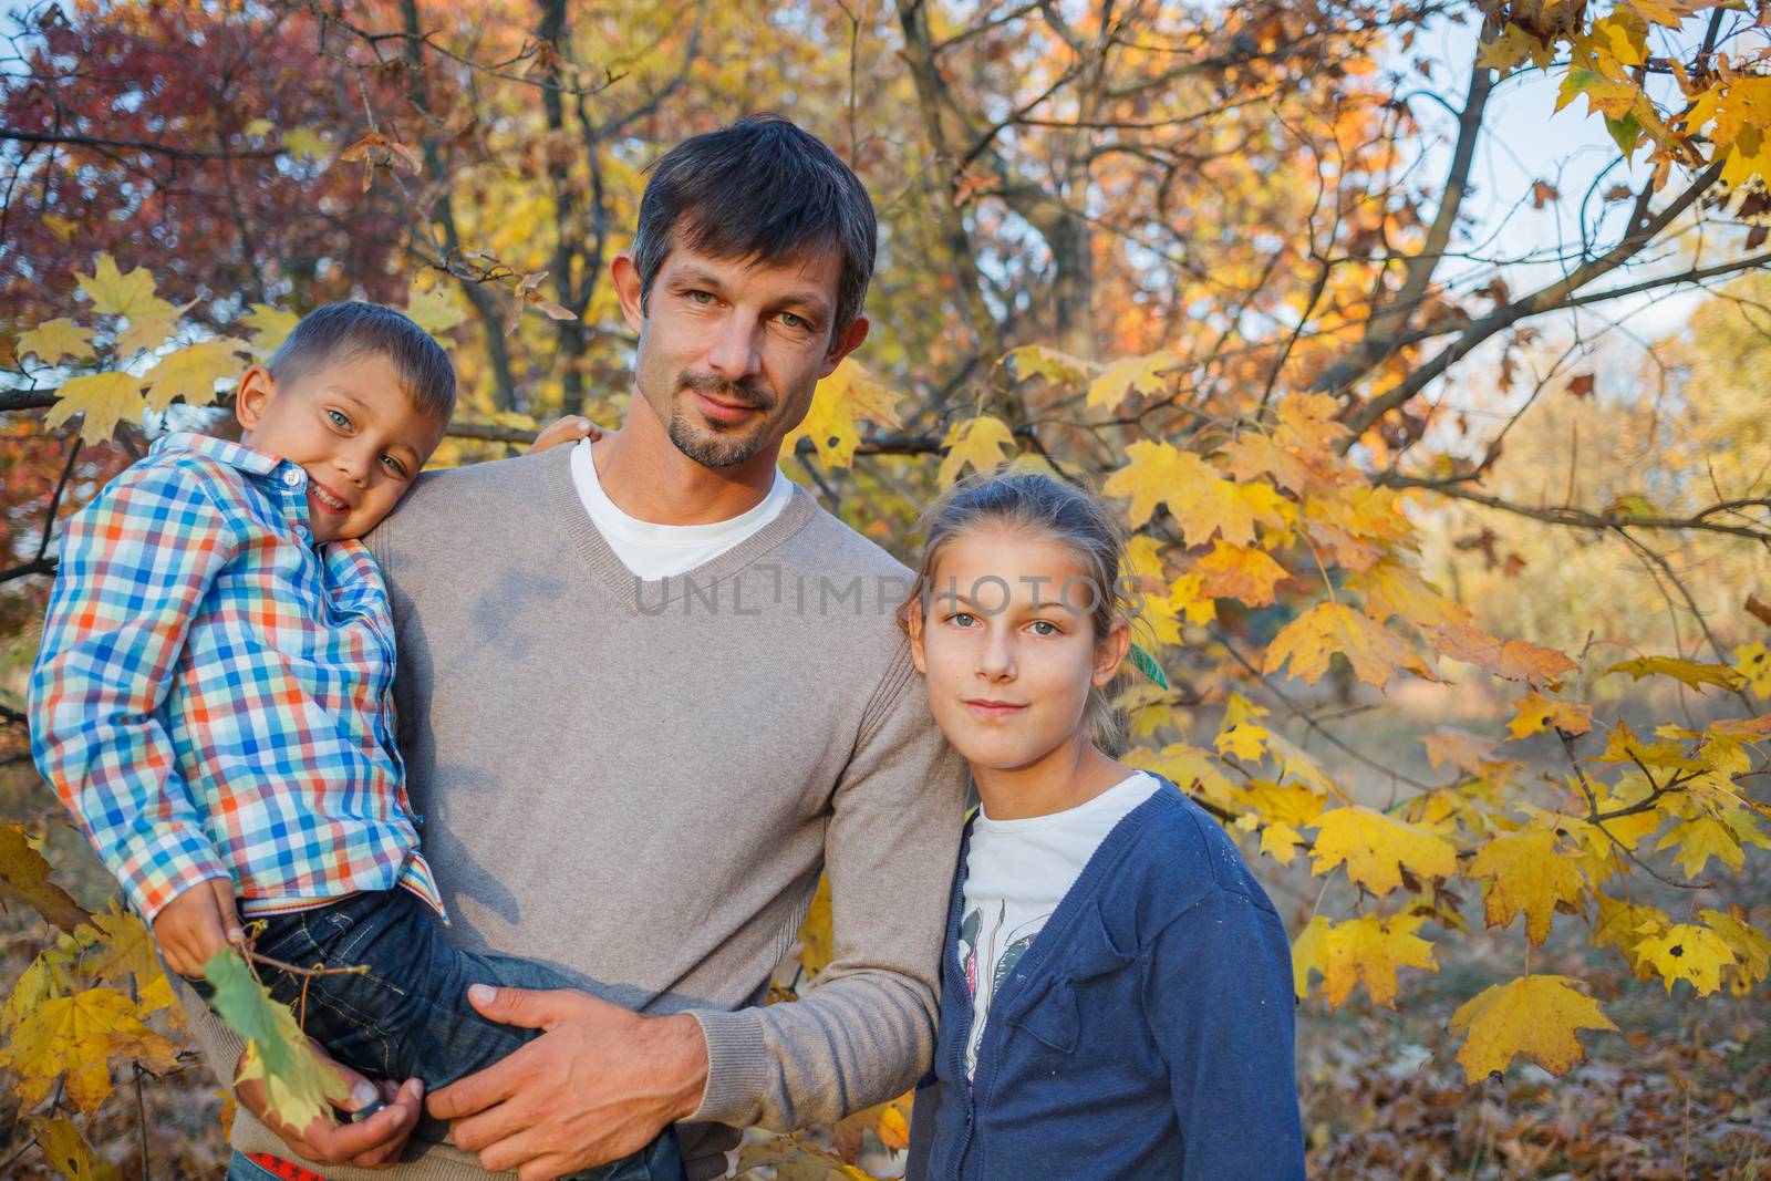
[[[788,262],[712,259],[677,246],[664,259],[645,313],[638,273],[616,269],[629,322],[639,329],[636,382],[671,443],[707,467],[730,467],[776,448],[811,407],[818,379],[861,343],[857,319],[832,347],[841,257]]]

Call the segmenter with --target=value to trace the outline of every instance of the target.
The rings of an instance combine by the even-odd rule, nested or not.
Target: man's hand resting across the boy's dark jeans
[[[487,1172],[549,1181],[620,1160],[701,1105],[707,1039],[687,1013],[639,1016],[572,990],[475,984],[468,999],[494,1022],[547,1030],[430,1096]]]

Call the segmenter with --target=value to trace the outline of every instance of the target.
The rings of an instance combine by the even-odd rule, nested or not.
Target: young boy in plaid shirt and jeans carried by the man
[[[570,986],[443,938],[406,799],[393,614],[356,538],[453,405],[448,356],[398,312],[305,317],[241,379],[239,444],[166,436],[67,519],[30,680],[37,767],[172,970],[205,992],[202,965],[246,938],[239,915],[264,922],[260,956],[367,967],[303,979],[260,960],[278,999],[306,983],[306,1030],[333,1057],[430,1087],[535,1036],[475,1013],[471,983]],[[666,1133],[586,1176],[682,1165]]]

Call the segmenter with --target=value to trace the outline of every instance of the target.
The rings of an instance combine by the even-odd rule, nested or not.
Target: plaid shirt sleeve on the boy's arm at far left
[[[161,705],[191,616],[239,551],[193,473],[131,467],[67,519],[32,669],[32,754],[149,922],[227,878]]]

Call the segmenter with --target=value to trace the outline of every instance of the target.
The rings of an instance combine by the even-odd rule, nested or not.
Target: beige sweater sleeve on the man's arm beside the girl
[[[928,1068],[965,765],[935,728],[909,645],[875,701],[824,839],[834,956],[802,1000],[694,1013],[708,1066],[691,1121],[829,1123]]]

